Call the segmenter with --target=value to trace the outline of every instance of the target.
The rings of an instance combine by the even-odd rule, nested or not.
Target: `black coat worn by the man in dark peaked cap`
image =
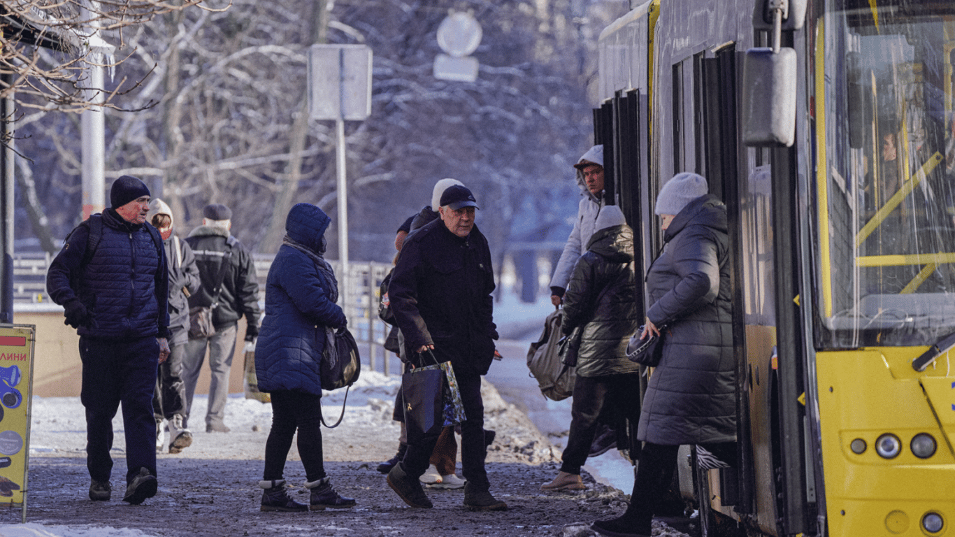
[[[436,219],[409,234],[388,295],[413,361],[422,345],[435,345],[437,360],[450,360],[456,373],[487,373],[498,338],[494,287],[491,251],[477,226],[462,239]]]

